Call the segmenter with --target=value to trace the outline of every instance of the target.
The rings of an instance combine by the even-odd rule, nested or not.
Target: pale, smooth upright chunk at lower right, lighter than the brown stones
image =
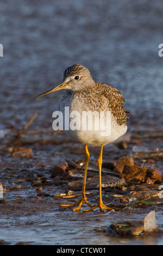
[[[155,221],[155,211],[150,211],[144,220],[145,233],[158,231],[158,225]]]

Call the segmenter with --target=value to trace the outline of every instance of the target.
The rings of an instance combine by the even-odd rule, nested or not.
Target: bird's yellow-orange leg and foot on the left
[[[80,210],[82,204],[87,204],[89,207],[92,207],[92,205],[90,205],[88,202],[87,202],[87,198],[85,196],[85,183],[86,183],[86,173],[87,173],[87,167],[88,167],[88,164],[89,164],[89,158],[90,158],[90,154],[89,154],[89,151],[87,149],[87,145],[84,145],[84,148],[85,148],[85,170],[84,170],[84,180],[83,180],[83,189],[82,189],[82,197],[81,199],[77,202],[77,203],[74,203],[74,204],[61,204],[60,206],[61,207],[70,207],[70,206],[75,206],[75,205],[78,205],[77,208],[73,209],[73,211],[78,211]]]

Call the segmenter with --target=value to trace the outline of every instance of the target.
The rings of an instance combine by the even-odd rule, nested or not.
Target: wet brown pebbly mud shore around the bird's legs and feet
[[[39,134],[40,132],[40,134]],[[1,145],[1,184],[3,198],[1,207],[2,244],[14,245],[109,245],[109,244],[161,244],[162,243],[162,199],[159,180],[125,180],[125,176],[115,172],[117,163],[124,157],[133,159],[130,167],[158,169],[162,178],[162,159],[155,147],[161,145],[162,138],[155,134],[149,139],[137,139],[134,132],[106,145],[103,154],[102,194],[103,202],[113,210],[78,212],[73,208],[61,208],[60,204],[75,203],[80,199],[84,175],[84,147],[72,142],[62,132],[53,137],[53,130],[28,130],[20,141],[13,143],[13,131],[3,138]],[[160,132],[160,131],[159,131]],[[159,134],[158,132],[158,134]],[[147,134],[147,131],[146,131]],[[15,134],[16,135],[16,134]],[[30,137],[30,140],[28,139]],[[61,142],[62,138],[62,142]],[[28,144],[26,142],[29,142]],[[120,149],[120,145],[127,148]],[[142,154],[135,158],[135,145],[149,148],[149,156]],[[17,150],[15,150],[17,149]],[[91,204],[98,201],[98,147],[89,147],[90,163],[87,172],[86,197]],[[24,154],[28,152],[32,154]],[[151,151],[155,157],[151,159]],[[15,155],[14,152],[22,154]],[[14,155],[13,155],[14,154]],[[146,157],[144,157],[146,156]],[[131,163],[131,162],[130,162]],[[122,172],[123,173],[123,172]],[[134,175],[134,174],[133,174]],[[116,209],[119,210],[116,210]],[[114,210],[115,209],[115,210]],[[150,211],[155,211],[159,231],[131,236],[133,223],[142,222]],[[110,225],[128,224],[128,230],[117,235],[108,234]],[[123,226],[122,225],[122,226]],[[112,226],[111,226],[112,227]],[[126,227],[126,228],[127,228]],[[112,230],[112,229],[111,229]],[[135,229],[134,229],[135,230]],[[137,230],[137,228],[136,228]],[[138,228],[140,231],[140,229]],[[135,233],[134,233],[135,234]]]

